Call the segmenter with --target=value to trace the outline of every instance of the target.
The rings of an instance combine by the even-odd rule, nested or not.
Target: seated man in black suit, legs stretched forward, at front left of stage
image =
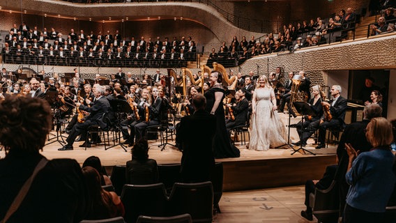
[[[103,125],[102,121],[102,116],[106,112],[109,111],[110,108],[110,103],[105,96],[105,87],[104,86],[96,86],[96,89],[94,91],[95,98],[93,99],[93,102],[91,102],[89,99],[86,100],[87,104],[91,105],[91,107],[81,105],[81,103],[77,102],[76,106],[79,107],[79,110],[89,112],[89,116],[86,116],[86,119],[84,123],[76,123],[68,138],[66,139],[67,143],[65,146],[62,148],[59,148],[59,151],[69,151],[73,150],[73,143],[75,142],[75,139],[79,134],[86,133],[88,130],[89,126],[91,125]],[[80,145],[80,147],[91,147],[91,144],[89,141],[85,141],[84,144]]]

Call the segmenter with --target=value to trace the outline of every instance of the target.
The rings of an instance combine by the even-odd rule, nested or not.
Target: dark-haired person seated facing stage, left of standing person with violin
[[[148,159],[148,142],[140,139],[132,148],[132,160],[126,162],[126,183],[153,184],[158,183],[158,165],[153,159]]]

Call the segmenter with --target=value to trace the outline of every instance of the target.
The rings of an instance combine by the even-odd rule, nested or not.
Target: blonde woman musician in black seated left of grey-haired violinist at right
[[[298,132],[298,138],[301,139],[301,134],[303,133],[303,130],[307,128],[310,123],[314,121],[318,121],[322,114],[323,114],[323,109],[321,102],[326,98],[326,95],[323,91],[321,91],[321,86],[320,85],[315,85],[312,86],[312,93],[314,94],[314,98],[312,98],[309,102],[310,107],[312,111],[314,111],[315,115],[314,116],[304,116],[303,121],[299,121],[296,124],[297,132]],[[302,146],[306,146],[307,141],[298,141],[294,143],[296,146],[300,146],[300,144],[303,144]]]

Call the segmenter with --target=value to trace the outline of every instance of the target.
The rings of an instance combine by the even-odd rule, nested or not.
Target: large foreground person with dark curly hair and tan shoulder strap
[[[39,152],[52,127],[50,105],[38,98],[8,95],[0,103],[0,117],[0,144],[6,150],[0,160],[0,220],[84,219],[87,187],[77,161],[47,160]]]

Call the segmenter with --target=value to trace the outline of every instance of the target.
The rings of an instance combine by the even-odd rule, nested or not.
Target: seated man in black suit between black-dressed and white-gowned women
[[[248,90],[239,89],[235,93],[235,98],[237,100],[236,104],[227,104],[227,107],[231,108],[234,114],[234,121],[230,118],[225,124],[225,127],[228,131],[235,126],[245,125],[247,121],[246,119],[248,118],[249,101],[245,98],[246,94],[248,94]]]

